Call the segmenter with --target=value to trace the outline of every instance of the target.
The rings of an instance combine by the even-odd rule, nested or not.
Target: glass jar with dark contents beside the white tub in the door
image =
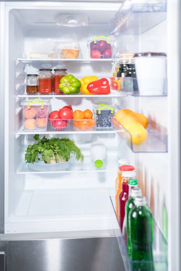
[[[117,72],[117,77],[125,78],[131,77],[133,79],[133,90],[138,91],[138,83],[136,80],[136,70],[135,70],[135,60],[134,53],[123,53],[119,55],[119,70]],[[125,91],[130,91],[130,81],[124,80],[124,89]]]

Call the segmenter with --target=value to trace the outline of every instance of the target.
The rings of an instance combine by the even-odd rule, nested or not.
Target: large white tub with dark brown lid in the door
[[[134,55],[140,96],[162,96],[166,89],[166,54],[137,53]]]

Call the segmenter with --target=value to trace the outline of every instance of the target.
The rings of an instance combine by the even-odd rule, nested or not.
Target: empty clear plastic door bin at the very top
[[[125,0],[111,19],[111,35],[138,35],[166,19],[165,1],[157,0],[155,4],[134,4],[134,2],[136,1]]]

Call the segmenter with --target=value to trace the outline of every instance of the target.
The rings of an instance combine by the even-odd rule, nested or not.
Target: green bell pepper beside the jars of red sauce
[[[61,78],[58,87],[64,94],[77,94],[80,92],[81,82],[69,74]]]

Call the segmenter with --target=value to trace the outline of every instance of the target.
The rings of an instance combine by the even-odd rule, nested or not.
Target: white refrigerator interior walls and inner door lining
[[[13,5],[13,6],[12,6]],[[59,39],[78,41],[83,59],[88,59],[87,38],[110,35],[109,22],[120,4],[108,3],[7,3],[5,7],[5,236],[89,237],[115,234],[109,196],[114,195],[118,159],[128,158],[135,166],[139,186],[147,197],[154,218],[167,239],[168,153],[134,153],[114,131],[97,133],[57,133],[55,137],[74,139],[86,159],[81,165],[66,163],[60,171],[36,171],[25,165],[24,152],[34,143],[33,134],[22,131],[22,108],[26,73],[40,68],[66,68],[78,79],[95,75],[111,76],[111,61],[56,61],[25,63],[30,52],[52,53]],[[56,26],[57,13],[88,14],[88,26]],[[161,51],[166,48],[166,20],[141,35],[115,36],[115,53]],[[154,50],[153,50],[154,48]],[[46,98],[45,98],[46,99]],[[167,128],[167,97],[49,97],[51,110],[71,104],[73,110],[92,109],[105,103],[125,107],[149,116]],[[45,134],[47,137],[51,133]],[[43,136],[43,133],[40,134]],[[107,159],[96,171],[89,157],[90,145],[102,141]],[[164,183],[162,183],[164,182]],[[11,236],[11,237],[10,237]],[[23,236],[23,235],[22,235]],[[25,236],[25,235],[24,235]]]

